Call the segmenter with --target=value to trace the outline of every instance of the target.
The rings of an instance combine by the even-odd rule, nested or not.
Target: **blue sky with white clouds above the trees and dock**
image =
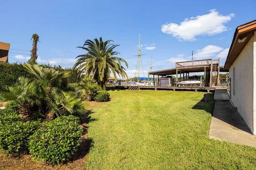
[[[235,28],[255,20],[255,2],[248,1],[3,1],[0,41],[11,43],[10,62],[26,62],[31,35],[37,33],[38,63],[72,67],[85,52],[86,39],[114,40],[128,63],[137,69],[141,35],[141,76],[169,69],[177,61],[221,58],[224,64]],[[23,53],[23,54],[14,54]]]

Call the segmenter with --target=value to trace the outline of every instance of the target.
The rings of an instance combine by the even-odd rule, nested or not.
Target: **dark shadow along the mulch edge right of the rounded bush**
[[[87,111],[87,113],[81,118],[81,128],[83,129],[83,134],[82,134],[82,141],[81,141],[81,145],[77,148],[77,151],[73,157],[73,159],[71,159],[71,161],[75,161],[77,159],[81,159],[83,157],[85,157],[89,151],[90,148],[93,146],[93,140],[91,138],[88,138],[88,127],[89,127],[89,123],[93,122],[93,121],[97,121],[97,119],[95,118],[91,118],[91,114],[93,112],[91,110]]]

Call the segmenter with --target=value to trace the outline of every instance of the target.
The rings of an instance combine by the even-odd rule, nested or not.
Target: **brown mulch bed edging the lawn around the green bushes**
[[[0,170],[2,169],[85,169],[87,165],[87,160],[89,158],[89,150],[91,148],[92,140],[88,137],[87,129],[89,122],[95,121],[91,119],[90,114],[92,113],[91,109],[95,106],[98,106],[99,102],[89,101],[86,102],[89,107],[87,108],[88,113],[82,118],[81,128],[83,129],[82,135],[82,143],[81,146],[78,147],[78,150],[72,160],[70,160],[66,164],[60,164],[57,166],[46,165],[41,162],[34,161],[30,155],[23,155],[20,158],[8,157],[2,151],[0,151]]]

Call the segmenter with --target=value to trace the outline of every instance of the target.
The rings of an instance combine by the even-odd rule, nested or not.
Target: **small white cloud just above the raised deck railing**
[[[213,58],[214,56],[216,56],[216,54],[222,52],[222,50],[223,50],[223,48],[221,48],[219,46],[208,45],[202,49],[198,49],[197,53],[194,55],[194,58],[197,60],[210,59],[210,58]]]

